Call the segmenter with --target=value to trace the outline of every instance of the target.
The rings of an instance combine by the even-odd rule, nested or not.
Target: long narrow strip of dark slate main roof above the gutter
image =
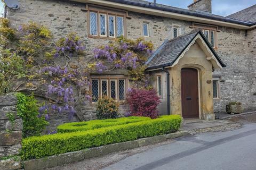
[[[106,0],[106,1],[140,6],[140,7],[153,8],[156,10],[168,11],[168,12],[191,15],[191,16],[198,16],[198,17],[202,17],[202,18],[236,23],[236,24],[242,24],[242,25],[248,25],[248,26],[252,25],[251,22],[239,21],[237,19],[226,18],[225,16],[214,15],[214,14],[202,12],[202,11],[192,11],[192,10],[187,10],[187,9],[183,9],[183,8],[179,8],[179,7],[173,7],[173,6],[163,5],[163,4],[158,4],[158,3],[156,3],[156,5],[154,5],[154,3],[152,3],[152,2],[143,1],[143,0]]]

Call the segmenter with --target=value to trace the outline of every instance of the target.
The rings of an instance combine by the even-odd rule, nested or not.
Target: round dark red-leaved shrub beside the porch
[[[126,101],[130,106],[132,116],[157,118],[157,106],[160,99],[154,89],[130,89]]]

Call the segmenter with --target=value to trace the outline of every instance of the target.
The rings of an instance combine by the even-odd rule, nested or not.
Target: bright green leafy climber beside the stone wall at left
[[[39,115],[37,100],[34,96],[26,96],[21,93],[17,94],[17,99],[17,115],[22,118],[23,138],[41,135],[49,123],[45,121],[44,115]]]

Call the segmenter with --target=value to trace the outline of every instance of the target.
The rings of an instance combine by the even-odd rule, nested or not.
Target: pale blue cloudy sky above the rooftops
[[[149,1],[153,2],[153,0]],[[156,0],[156,2],[187,9],[187,6],[193,3],[193,0]],[[212,0],[212,13],[227,16],[255,4],[256,0]],[[0,1],[0,11],[1,14],[4,12],[2,1]]]

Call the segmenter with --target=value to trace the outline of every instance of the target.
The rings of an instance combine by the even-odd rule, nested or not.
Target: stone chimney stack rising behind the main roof
[[[212,13],[212,0],[194,0],[194,3],[188,5],[188,9]]]

